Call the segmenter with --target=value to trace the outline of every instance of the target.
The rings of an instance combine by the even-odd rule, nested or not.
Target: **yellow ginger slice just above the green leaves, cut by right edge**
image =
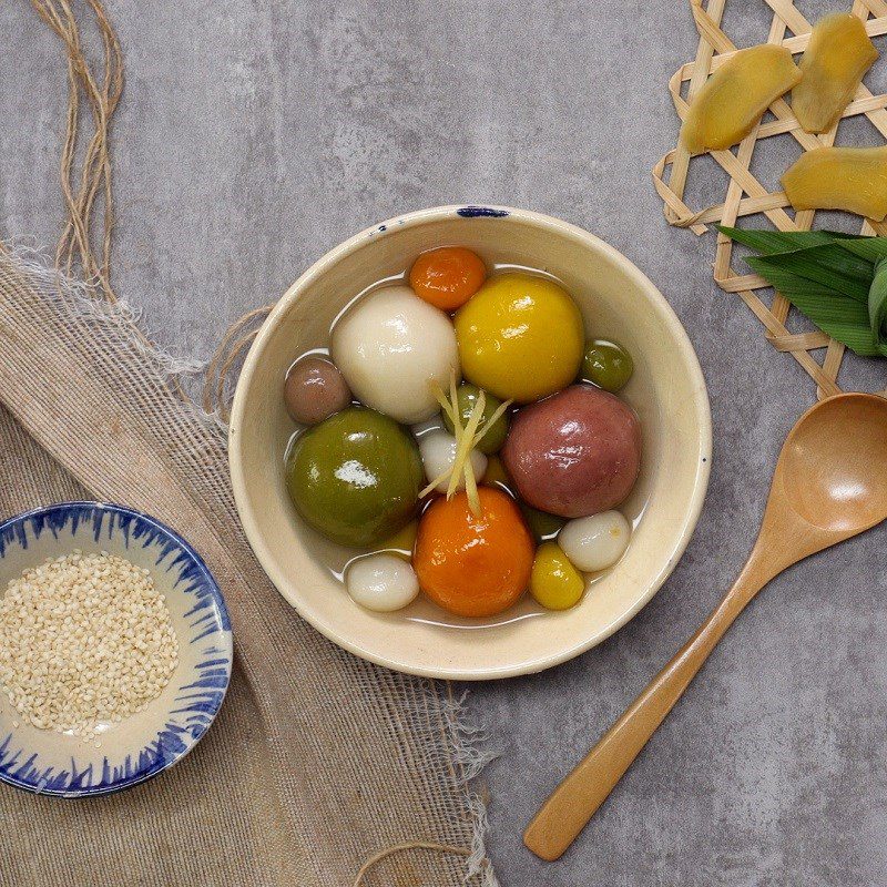
[[[887,216],[887,145],[817,147],[783,175],[795,210],[846,210],[876,222]]]

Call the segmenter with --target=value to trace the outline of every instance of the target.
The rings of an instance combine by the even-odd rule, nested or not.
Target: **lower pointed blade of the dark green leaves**
[[[798,277],[778,265],[771,264],[767,258],[746,261],[832,338],[844,343],[861,357],[887,357],[887,347],[879,345],[871,333],[866,305],[827,286],[816,285],[804,277]]]

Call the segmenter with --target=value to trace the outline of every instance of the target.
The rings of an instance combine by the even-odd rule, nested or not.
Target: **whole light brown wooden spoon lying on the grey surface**
[[[887,399],[823,400],[779,453],[761,533],[736,583],[705,624],[554,789],[523,843],[557,859],[603,804],[755,594],[799,560],[887,519]]]

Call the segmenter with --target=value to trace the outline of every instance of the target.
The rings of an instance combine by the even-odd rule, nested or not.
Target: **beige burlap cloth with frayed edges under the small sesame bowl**
[[[0,884],[351,885],[416,840],[475,855],[402,850],[361,884],[493,884],[447,685],[339,651],[283,601],[241,530],[224,429],[125,305],[92,296],[0,252],[0,512],[104,499],[179,529],[225,593],[237,665],[205,741],[156,779],[80,802],[0,785]]]

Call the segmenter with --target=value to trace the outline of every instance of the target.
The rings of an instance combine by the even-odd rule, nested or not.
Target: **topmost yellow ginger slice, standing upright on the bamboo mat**
[[[877,58],[856,16],[836,12],[816,22],[801,60],[804,79],[792,91],[792,110],[806,132],[828,132],[840,120]]]

